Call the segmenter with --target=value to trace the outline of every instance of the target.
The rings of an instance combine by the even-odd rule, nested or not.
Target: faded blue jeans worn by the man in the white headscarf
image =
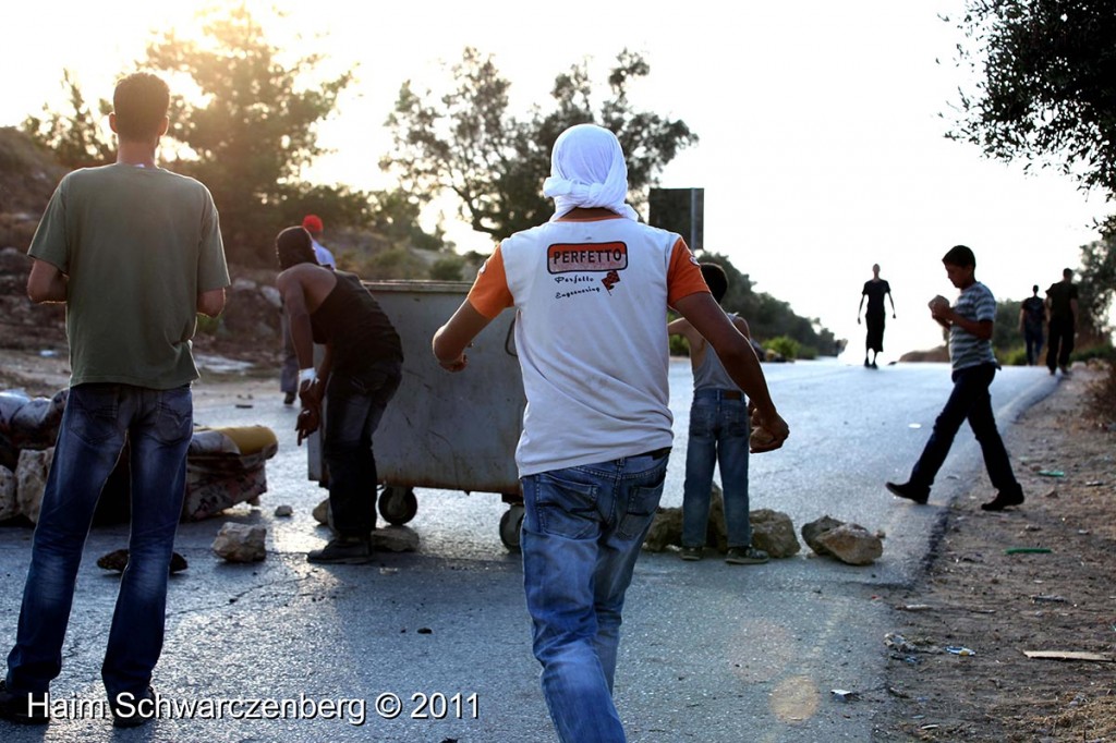
[[[668,459],[662,451],[521,481],[527,609],[564,743],[625,740],[613,703],[620,612]]]

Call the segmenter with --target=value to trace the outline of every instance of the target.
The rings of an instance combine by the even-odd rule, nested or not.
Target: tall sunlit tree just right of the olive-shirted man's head
[[[170,134],[184,145],[177,170],[212,191],[233,260],[270,261],[281,205],[299,193],[301,168],[324,152],[316,125],[353,75],[319,79],[318,54],[285,62],[243,4],[200,18],[199,40],[163,33],[147,47],[146,66],[196,86],[171,104]]]

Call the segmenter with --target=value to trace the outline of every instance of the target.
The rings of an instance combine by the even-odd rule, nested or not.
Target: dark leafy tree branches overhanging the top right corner
[[[979,81],[951,136],[1116,194],[1116,3],[968,0],[958,26]]]

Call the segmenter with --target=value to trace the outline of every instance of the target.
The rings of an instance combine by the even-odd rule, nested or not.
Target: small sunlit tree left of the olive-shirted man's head
[[[41,116],[23,119],[23,132],[52,149],[58,162],[66,167],[89,167],[113,162],[116,147],[104,128],[105,117],[113,105],[102,98],[94,113],[68,69],[62,70],[62,88],[73,110],[61,113],[45,105]]]

